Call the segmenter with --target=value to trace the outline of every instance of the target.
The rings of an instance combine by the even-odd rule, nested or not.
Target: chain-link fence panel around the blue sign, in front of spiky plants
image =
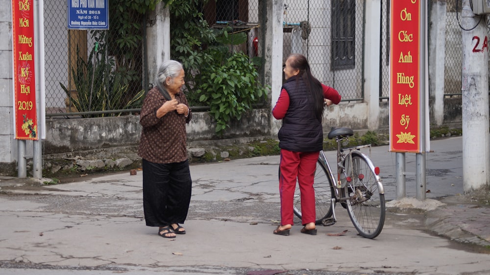
[[[109,30],[68,29],[67,2],[45,2],[48,115],[119,115],[101,113],[141,103],[144,15],[117,9],[121,1],[109,0]]]

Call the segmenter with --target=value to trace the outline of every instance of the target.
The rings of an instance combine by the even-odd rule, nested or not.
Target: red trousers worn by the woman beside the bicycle
[[[281,225],[293,225],[293,201],[296,179],[301,193],[301,224],[314,223],[315,189],[313,180],[317,168],[319,152],[292,152],[281,149],[281,177],[279,194],[281,195]]]

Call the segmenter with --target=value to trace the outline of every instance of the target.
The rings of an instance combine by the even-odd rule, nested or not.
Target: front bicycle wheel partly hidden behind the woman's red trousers
[[[279,178],[281,177],[281,169],[279,168]],[[330,183],[330,177],[323,165],[322,160],[317,160],[317,169],[315,171],[315,179],[313,187],[315,188],[315,212],[317,225],[321,225],[322,221],[332,216],[331,198],[332,198],[332,184]],[[299,191],[299,184],[296,182],[296,188],[294,190],[294,202],[293,202],[294,214],[301,219],[301,195]]]

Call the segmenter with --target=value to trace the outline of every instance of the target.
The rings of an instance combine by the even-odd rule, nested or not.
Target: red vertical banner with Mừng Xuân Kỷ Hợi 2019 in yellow
[[[38,139],[33,0],[12,0],[15,138]]]

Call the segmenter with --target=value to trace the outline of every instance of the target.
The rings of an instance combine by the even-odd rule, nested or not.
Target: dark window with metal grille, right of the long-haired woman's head
[[[355,0],[331,0],[333,70],[355,67]]]

